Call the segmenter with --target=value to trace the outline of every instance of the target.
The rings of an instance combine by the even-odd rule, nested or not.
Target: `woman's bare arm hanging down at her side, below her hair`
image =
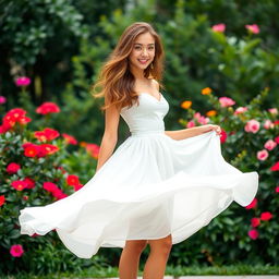
[[[120,112],[116,106],[109,107],[106,111],[105,132],[102,135],[96,172],[112,155],[118,142],[118,125]]]

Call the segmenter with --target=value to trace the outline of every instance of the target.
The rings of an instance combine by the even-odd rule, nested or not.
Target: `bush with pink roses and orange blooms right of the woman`
[[[240,107],[231,98],[218,98],[206,87],[201,94],[209,104],[205,114],[193,109],[195,104],[191,100],[181,104],[185,116],[179,122],[186,128],[219,124],[223,157],[243,172],[257,171],[259,187],[248,206],[232,203],[207,227],[174,245],[171,263],[278,265],[279,119],[278,108],[263,108],[268,94],[269,88],[264,88],[246,106]]]

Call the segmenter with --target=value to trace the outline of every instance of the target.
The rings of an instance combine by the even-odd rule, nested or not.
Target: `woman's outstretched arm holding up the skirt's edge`
[[[206,124],[201,126],[193,126],[177,131],[165,131],[165,134],[170,136],[172,140],[184,140],[187,137],[201,135],[210,131],[216,131],[218,135],[221,133],[221,128],[219,125]]]

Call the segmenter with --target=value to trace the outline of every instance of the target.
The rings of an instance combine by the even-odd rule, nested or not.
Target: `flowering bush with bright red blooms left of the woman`
[[[21,77],[16,83],[26,88],[29,78]],[[2,96],[0,100],[1,105],[5,101]],[[38,131],[29,128],[34,120],[23,108],[4,113],[0,125],[0,270],[81,270],[99,266],[100,259],[105,266],[106,260],[99,255],[94,260],[77,258],[54,231],[45,236],[20,234],[20,210],[47,205],[78,191],[94,174],[99,149],[94,143],[77,142],[49,126],[53,114],[60,113],[56,104],[44,102],[35,113],[41,118]]]

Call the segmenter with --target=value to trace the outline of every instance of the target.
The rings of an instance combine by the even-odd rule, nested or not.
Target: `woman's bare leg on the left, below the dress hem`
[[[146,247],[146,240],[128,240],[119,260],[119,278],[136,279],[140,257]]]

